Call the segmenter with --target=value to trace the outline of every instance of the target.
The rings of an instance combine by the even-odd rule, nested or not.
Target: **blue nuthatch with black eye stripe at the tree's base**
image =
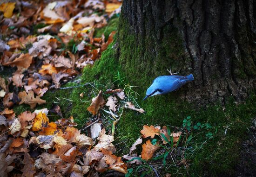
[[[178,76],[177,73],[172,74],[171,70],[168,70],[171,75],[159,76],[155,78],[150,87],[147,89],[146,96],[143,100],[146,100],[150,96],[167,94],[181,88],[187,82],[193,81],[194,76],[189,74],[188,76]]]

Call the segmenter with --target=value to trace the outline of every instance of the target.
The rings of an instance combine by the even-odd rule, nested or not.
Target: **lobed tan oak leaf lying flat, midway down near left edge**
[[[46,101],[40,99],[39,96],[36,96],[36,97],[34,98],[34,92],[33,92],[32,90],[30,90],[30,91],[28,92],[28,94],[26,93],[26,91],[20,92],[20,93],[18,94],[18,96],[19,96],[19,98],[21,99],[20,104],[22,104],[22,103],[28,104],[28,105],[30,105],[30,108],[31,108],[31,109],[34,109],[34,107],[36,106],[36,104],[39,104],[39,105],[40,105],[40,104],[46,103]]]

